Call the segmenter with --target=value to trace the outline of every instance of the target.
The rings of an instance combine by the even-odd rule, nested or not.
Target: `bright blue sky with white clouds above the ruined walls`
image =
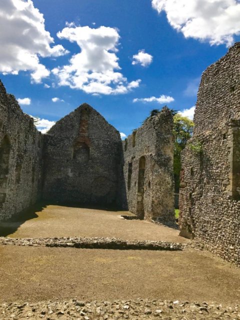
[[[164,104],[191,116],[201,73],[240,40],[238,0],[1,0],[0,9],[0,78],[44,131],[83,102],[126,135]]]

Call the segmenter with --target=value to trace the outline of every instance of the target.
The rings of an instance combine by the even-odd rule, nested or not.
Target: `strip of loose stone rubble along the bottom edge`
[[[17,319],[240,319],[240,306],[222,306],[207,302],[169,300],[114,301],[44,301],[38,303],[4,303],[0,305],[0,320]]]

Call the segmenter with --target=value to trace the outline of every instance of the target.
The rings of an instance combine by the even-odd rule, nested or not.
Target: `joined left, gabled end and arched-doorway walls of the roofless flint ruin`
[[[43,199],[116,205],[172,222],[171,132],[164,108],[122,145],[119,132],[84,103],[41,134],[0,82],[0,220]]]

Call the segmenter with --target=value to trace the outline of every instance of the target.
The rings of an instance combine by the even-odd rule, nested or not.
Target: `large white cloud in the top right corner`
[[[187,37],[227,46],[240,33],[239,0],[152,0],[170,25]]]

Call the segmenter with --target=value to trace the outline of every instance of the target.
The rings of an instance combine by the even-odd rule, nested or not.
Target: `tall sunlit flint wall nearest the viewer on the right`
[[[240,264],[240,42],[202,74],[182,152],[182,235]]]

